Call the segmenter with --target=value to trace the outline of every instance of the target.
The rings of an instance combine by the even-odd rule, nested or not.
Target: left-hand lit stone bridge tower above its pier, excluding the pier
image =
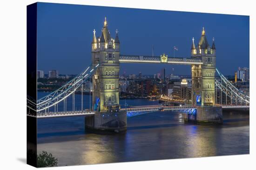
[[[119,111],[119,38],[111,38],[107,19],[92,42],[93,65],[100,63],[93,77],[93,110],[97,112]]]

